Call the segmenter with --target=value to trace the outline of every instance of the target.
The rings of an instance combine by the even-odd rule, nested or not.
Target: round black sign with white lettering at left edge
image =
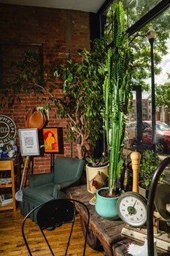
[[[7,117],[7,115],[0,115],[0,144],[7,144],[12,138],[16,137],[16,124]]]

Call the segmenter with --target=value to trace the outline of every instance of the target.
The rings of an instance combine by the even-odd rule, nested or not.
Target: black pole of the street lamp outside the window
[[[154,86],[154,38],[149,39],[151,58],[151,88],[152,88],[152,150],[156,153],[156,104]]]

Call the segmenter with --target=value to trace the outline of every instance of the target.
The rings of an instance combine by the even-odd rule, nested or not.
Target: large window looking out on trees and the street
[[[133,122],[137,127],[137,119],[140,124],[143,121],[152,122],[152,94],[151,94],[151,55],[150,43],[146,36],[149,29],[156,31],[154,40],[154,83],[156,87],[156,123],[164,122],[169,124],[170,114],[170,3],[169,1],[149,1],[149,0],[124,0],[127,20],[129,24],[129,36],[134,53],[133,61],[133,86],[141,86],[141,117],[137,117],[137,99],[133,99],[133,111],[129,117],[129,122]],[[112,20],[107,18],[105,31],[109,37],[112,33]],[[110,37],[112,38],[112,36]],[[112,43],[112,42],[109,42]],[[136,123],[134,123],[136,122]],[[149,123],[150,124],[150,123]],[[170,127],[170,126],[169,126]],[[141,131],[141,129],[136,129]],[[143,131],[142,131],[143,132]],[[157,132],[157,131],[156,131]],[[170,132],[170,130],[169,130]],[[165,132],[167,134],[167,132]],[[156,142],[161,144],[160,150],[164,154],[170,152],[170,136],[164,134],[163,137],[156,133]],[[137,133],[136,133],[137,135]],[[152,146],[152,135],[140,135],[141,144],[149,143]],[[148,137],[148,139],[146,138]],[[139,142],[139,139],[136,141]],[[161,153],[161,152],[160,152]]]

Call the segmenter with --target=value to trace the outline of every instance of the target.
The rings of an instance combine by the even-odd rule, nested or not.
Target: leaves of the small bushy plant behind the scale
[[[143,180],[145,186],[150,186],[150,182],[152,180],[152,176],[154,175],[154,171],[156,171],[160,160],[158,158],[158,154],[154,153],[153,150],[144,150],[142,152],[141,164],[139,167],[139,180]],[[163,177],[165,173],[161,173],[160,182],[163,181]]]

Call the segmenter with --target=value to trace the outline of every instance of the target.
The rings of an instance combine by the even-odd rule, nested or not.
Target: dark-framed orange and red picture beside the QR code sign
[[[48,127],[43,129],[44,152],[63,154],[63,128]]]

